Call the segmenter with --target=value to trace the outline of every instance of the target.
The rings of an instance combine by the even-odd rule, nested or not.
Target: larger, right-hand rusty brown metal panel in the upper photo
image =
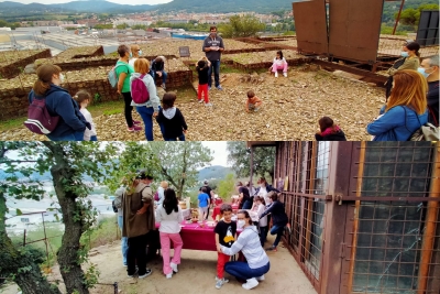
[[[383,0],[331,0],[329,56],[375,62]]]

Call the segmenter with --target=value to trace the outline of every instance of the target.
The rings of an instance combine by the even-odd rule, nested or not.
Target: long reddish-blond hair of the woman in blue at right
[[[385,112],[396,106],[409,106],[417,115],[425,113],[427,109],[426,95],[428,92],[426,78],[420,73],[411,69],[398,70],[393,78],[394,88]]]

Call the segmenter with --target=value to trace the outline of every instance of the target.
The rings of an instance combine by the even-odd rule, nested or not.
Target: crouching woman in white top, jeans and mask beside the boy
[[[258,285],[258,281],[264,281],[271,268],[268,257],[260,244],[258,230],[252,225],[252,219],[246,210],[240,210],[237,215],[237,226],[242,228],[237,241],[231,248],[219,246],[218,251],[234,255],[241,251],[248,262],[230,261],[224,265],[224,271],[240,280],[245,280],[242,284],[245,290],[251,290]]]

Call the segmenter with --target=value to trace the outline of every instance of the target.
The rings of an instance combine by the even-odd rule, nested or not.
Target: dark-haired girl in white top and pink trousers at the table
[[[156,210],[156,222],[161,222],[158,228],[161,235],[162,257],[164,259],[164,274],[166,279],[173,276],[173,271],[177,272],[177,264],[180,264],[180,252],[184,242],[180,238],[180,222],[184,221],[180,207],[176,198],[176,193],[172,188],[165,189],[165,199]],[[169,262],[169,241],[173,241],[174,255]]]

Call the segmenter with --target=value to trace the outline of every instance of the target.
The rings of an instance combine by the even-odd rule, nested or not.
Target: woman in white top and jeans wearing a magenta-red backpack
[[[138,58],[134,62],[134,73],[130,77],[130,90],[132,94],[131,106],[136,107],[138,113],[141,116],[145,124],[145,138],[153,141],[153,118],[158,116],[161,110],[156,85],[150,72],[150,63],[145,58]],[[163,127],[160,124],[161,131]]]

